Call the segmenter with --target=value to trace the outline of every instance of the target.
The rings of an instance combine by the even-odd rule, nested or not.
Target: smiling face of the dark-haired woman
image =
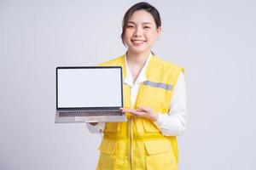
[[[124,42],[128,51],[137,54],[149,52],[155,39],[160,36],[160,31],[150,13],[145,10],[135,11],[125,28]]]

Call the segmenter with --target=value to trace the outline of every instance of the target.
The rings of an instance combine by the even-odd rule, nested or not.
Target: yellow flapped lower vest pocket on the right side
[[[146,167],[148,170],[177,170],[177,163],[172,152],[170,141],[151,140],[144,142],[146,156]]]

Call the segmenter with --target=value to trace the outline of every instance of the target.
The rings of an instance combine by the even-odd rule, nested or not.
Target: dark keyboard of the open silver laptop
[[[113,111],[60,111],[59,116],[122,116],[120,110]]]

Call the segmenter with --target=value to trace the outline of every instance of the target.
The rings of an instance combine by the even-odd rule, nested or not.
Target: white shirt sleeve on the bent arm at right
[[[180,73],[168,114],[158,114],[154,124],[165,136],[178,136],[183,133],[186,126],[186,88],[183,72]]]

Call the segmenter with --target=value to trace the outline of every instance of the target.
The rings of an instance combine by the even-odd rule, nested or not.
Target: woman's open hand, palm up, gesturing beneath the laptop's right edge
[[[137,117],[143,117],[146,119],[149,119],[151,121],[157,121],[158,119],[158,114],[154,112],[150,107],[147,106],[139,106],[137,109],[125,109],[125,108],[120,108],[121,111],[123,112],[129,112],[133,116]]]

